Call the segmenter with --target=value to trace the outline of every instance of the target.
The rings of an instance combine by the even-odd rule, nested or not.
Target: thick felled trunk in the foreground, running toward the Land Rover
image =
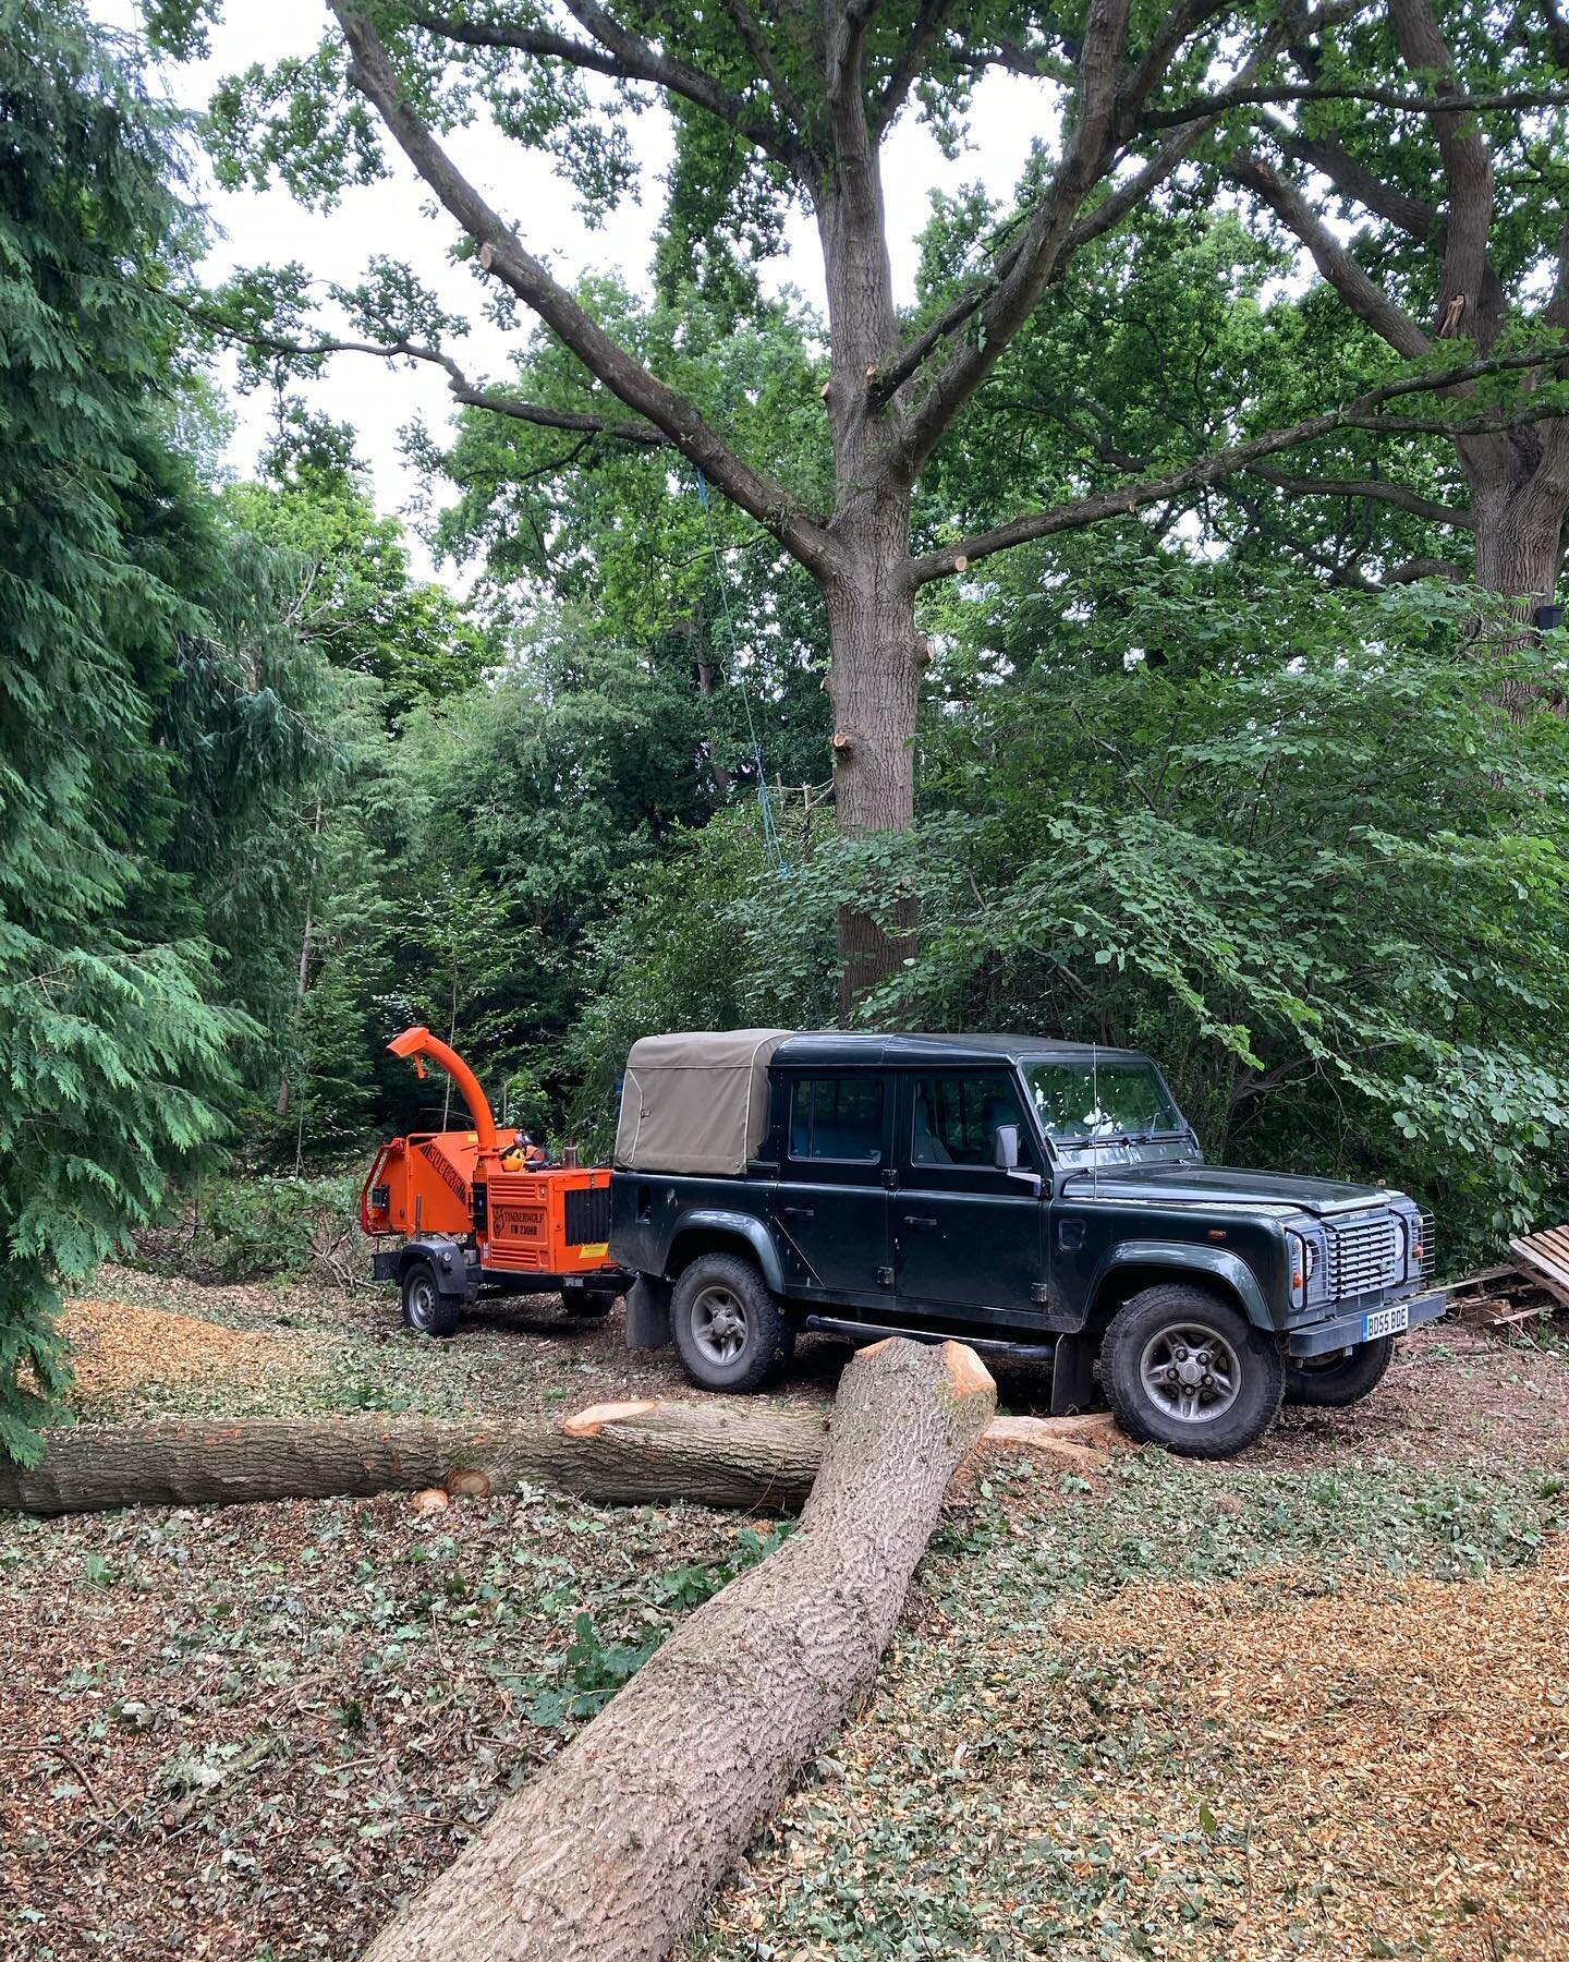
[[[992,1413],[973,1350],[845,1369],[800,1528],[696,1609],[367,1962],[657,1962],[871,1681]]]

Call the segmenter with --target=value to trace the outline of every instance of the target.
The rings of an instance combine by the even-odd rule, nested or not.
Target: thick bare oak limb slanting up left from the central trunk
[[[684,396],[651,375],[633,353],[604,332],[563,284],[551,279],[541,261],[526,251],[516,233],[435,141],[428,124],[404,96],[377,31],[353,0],[329,0],[329,4],[349,47],[349,80],[379,112],[398,147],[441,204],[475,239],[481,267],[510,286],[612,394],[663,430],[671,443],[710,483],[718,485],[732,504],[739,504],[810,571],[826,573],[835,559],[835,547],[826,528],[784,485],[735,455]],[[598,14],[596,8],[582,12]]]

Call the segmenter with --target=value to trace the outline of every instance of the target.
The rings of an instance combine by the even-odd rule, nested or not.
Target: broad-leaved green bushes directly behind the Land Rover
[[[1555,647],[1485,653],[1453,587],[1104,547],[947,626],[908,838],[781,879],[737,816],[628,891],[573,1038],[600,1122],[637,1034],[828,1020],[835,906],[914,899],[867,1026],[1147,1048],[1212,1156],[1406,1185],[1451,1267],[1557,1216],[1569,732],[1498,708]]]

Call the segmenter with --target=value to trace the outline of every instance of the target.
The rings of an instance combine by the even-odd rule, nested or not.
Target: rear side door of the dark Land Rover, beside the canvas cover
[[[881,1071],[822,1071],[786,1085],[784,1152],[771,1199],[784,1279],[826,1303],[886,1297],[892,1099]]]

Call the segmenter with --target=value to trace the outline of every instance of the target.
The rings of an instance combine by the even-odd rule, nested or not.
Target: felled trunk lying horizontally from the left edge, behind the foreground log
[[[1092,1468],[1108,1430],[1104,1417],[1000,1417],[987,1438]],[[757,1403],[600,1403],[565,1422],[251,1417],[86,1424],[45,1438],[43,1462],[31,1472],[0,1460],[0,1509],[53,1515],[365,1499],[451,1481],[463,1493],[553,1485],[602,1505],[688,1499],[796,1513],[818,1475],[828,1426],[810,1411]]]

